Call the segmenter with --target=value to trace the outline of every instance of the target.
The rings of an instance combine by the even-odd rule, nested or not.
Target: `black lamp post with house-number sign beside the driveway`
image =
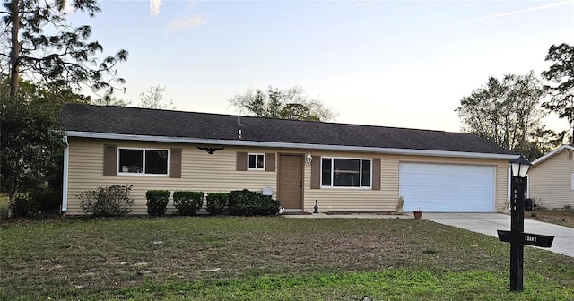
[[[510,160],[510,231],[498,230],[500,241],[510,243],[510,290],[523,290],[524,245],[552,246],[553,236],[524,233],[526,173],[532,164],[520,156]]]

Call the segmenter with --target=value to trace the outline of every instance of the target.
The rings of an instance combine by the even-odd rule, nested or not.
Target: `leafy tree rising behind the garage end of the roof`
[[[486,84],[460,100],[456,111],[463,130],[515,150],[529,159],[555,146],[555,135],[544,129],[542,82],[533,72],[489,77]]]

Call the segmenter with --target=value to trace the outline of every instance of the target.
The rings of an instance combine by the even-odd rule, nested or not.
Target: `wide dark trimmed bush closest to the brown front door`
[[[244,190],[229,193],[230,215],[275,215],[279,213],[279,201],[271,196]]]

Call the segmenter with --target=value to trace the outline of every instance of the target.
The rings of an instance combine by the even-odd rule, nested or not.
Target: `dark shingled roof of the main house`
[[[90,133],[514,154],[469,133],[239,117],[139,107],[65,104],[62,122],[66,131]],[[242,132],[241,139],[238,138],[238,130]]]

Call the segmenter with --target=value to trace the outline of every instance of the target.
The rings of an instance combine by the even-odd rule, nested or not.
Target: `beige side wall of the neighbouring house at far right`
[[[574,207],[574,159],[569,159],[569,152],[574,151],[562,150],[528,171],[529,195],[536,204],[550,209]]]

